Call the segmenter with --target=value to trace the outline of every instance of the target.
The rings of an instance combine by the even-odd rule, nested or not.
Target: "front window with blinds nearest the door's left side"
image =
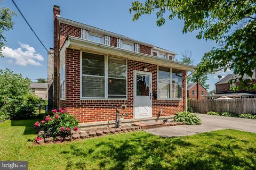
[[[108,98],[126,98],[126,60],[108,57]]]

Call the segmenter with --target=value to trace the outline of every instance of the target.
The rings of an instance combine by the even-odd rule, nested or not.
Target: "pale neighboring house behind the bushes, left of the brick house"
[[[35,95],[39,98],[48,99],[47,83],[31,83],[29,88],[34,90]]]

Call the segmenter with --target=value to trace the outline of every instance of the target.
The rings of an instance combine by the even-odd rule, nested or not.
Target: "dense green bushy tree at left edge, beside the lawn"
[[[41,99],[29,89],[31,81],[10,69],[0,69],[0,121],[8,118],[31,118]]]

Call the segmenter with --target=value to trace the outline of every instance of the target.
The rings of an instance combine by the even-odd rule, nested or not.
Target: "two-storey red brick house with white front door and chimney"
[[[185,110],[186,73],[175,53],[83,23],[54,20],[54,105],[81,123],[168,117]]]

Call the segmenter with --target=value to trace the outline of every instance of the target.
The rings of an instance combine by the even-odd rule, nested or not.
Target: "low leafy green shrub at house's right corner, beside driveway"
[[[202,121],[195,114],[186,111],[176,113],[174,122],[183,122],[190,125],[202,124]]]

